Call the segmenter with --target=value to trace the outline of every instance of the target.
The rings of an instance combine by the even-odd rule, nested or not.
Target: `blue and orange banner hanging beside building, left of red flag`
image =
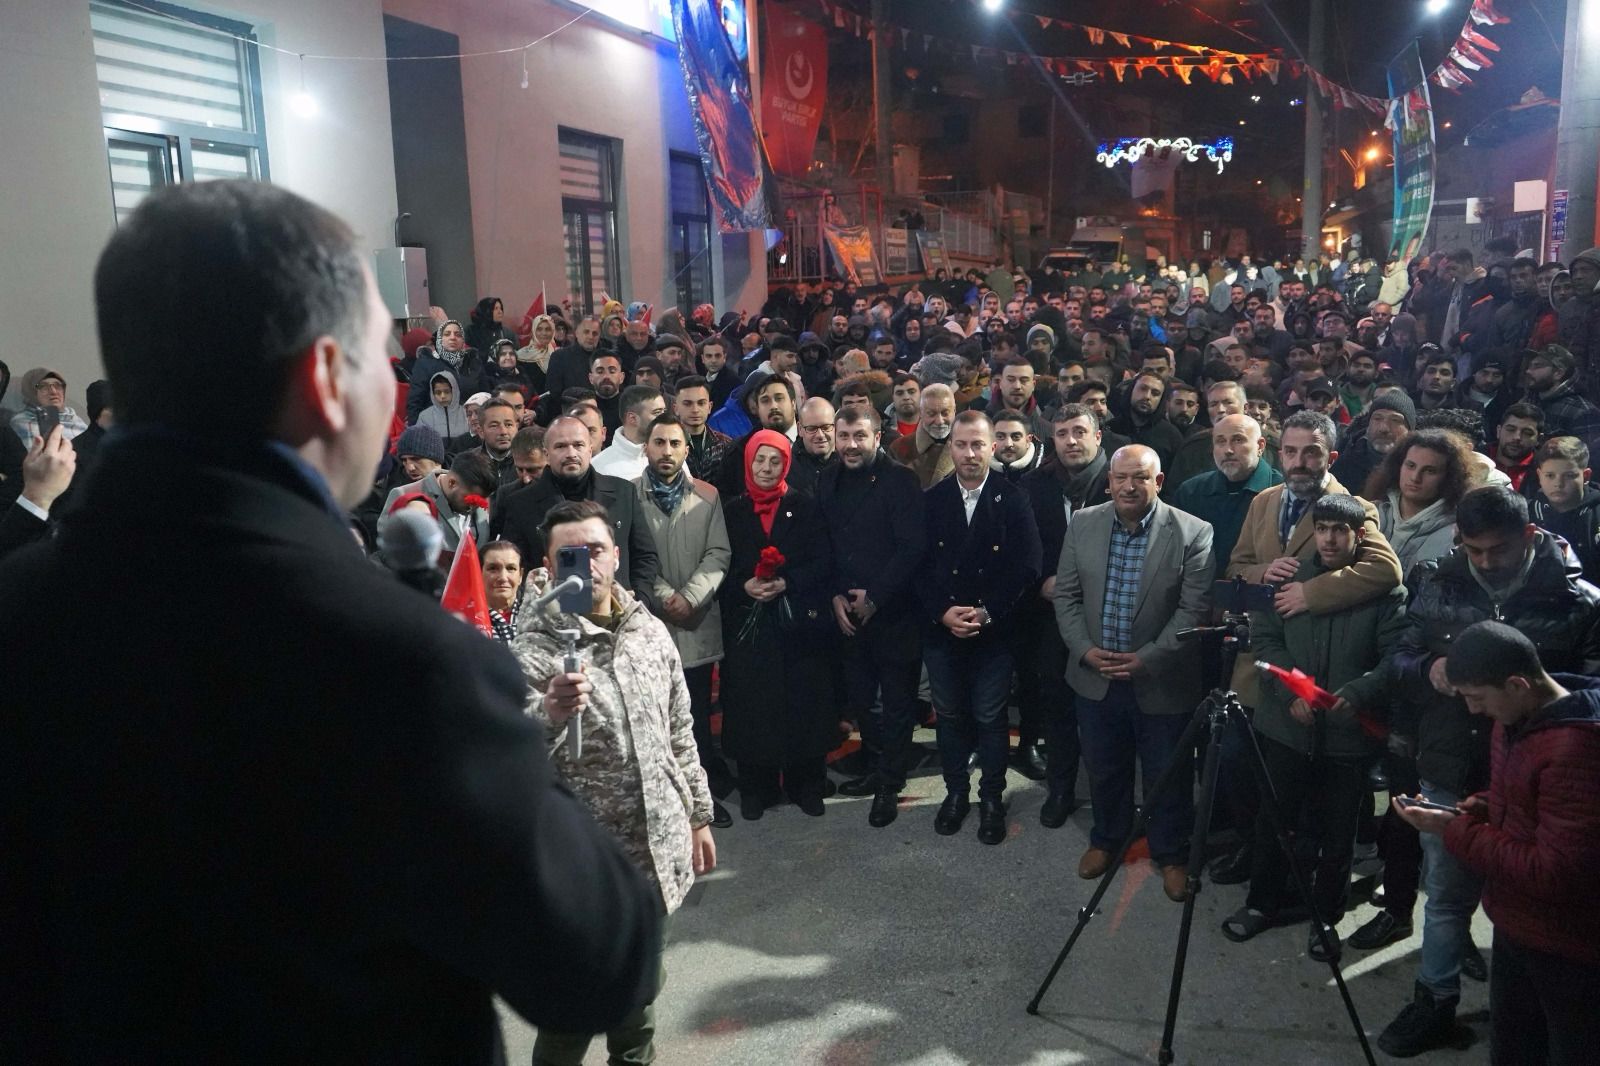
[[[723,29],[722,5],[672,0],[672,26],[717,227],[725,234],[771,229],[776,182],[755,128],[750,78]]]

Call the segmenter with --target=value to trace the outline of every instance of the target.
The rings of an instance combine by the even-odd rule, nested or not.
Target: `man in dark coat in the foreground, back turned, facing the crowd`
[[[118,431],[0,565],[0,1061],[491,1063],[493,994],[606,1029],[654,988],[659,900],[517,663],[350,538],[394,397],[365,258],[235,181],[101,256]]]

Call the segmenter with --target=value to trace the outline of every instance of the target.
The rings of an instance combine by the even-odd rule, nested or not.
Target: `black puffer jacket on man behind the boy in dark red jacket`
[[[1418,563],[1410,586],[1406,631],[1390,658],[1398,682],[1394,728],[1416,738],[1422,779],[1458,795],[1477,792],[1488,784],[1493,723],[1459,696],[1435,691],[1429,667],[1462,629],[1496,619],[1533,640],[1546,671],[1600,674],[1600,589],[1582,579],[1571,551],[1542,531],[1534,535],[1528,581],[1498,607],[1461,547]]]

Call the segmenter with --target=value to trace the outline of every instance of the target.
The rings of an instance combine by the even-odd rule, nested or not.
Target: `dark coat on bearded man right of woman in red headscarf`
[[[834,546],[834,578],[829,595],[866,589],[877,605],[869,627],[896,631],[896,645],[917,655],[920,626],[912,579],[926,552],[922,487],[917,475],[878,451],[867,472],[870,487],[853,503],[838,496],[845,475],[838,463],[822,469],[816,498]]]

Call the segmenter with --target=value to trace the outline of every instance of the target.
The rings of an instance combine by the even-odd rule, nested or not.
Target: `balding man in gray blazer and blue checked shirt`
[[[1187,892],[1194,821],[1192,752],[1178,739],[1198,695],[1198,648],[1178,631],[1211,608],[1211,527],[1162,503],[1162,461],[1144,445],[1110,458],[1110,503],[1072,515],[1056,571],[1056,623],[1067,645],[1094,828],[1078,877],[1094,879],[1133,829],[1133,760],[1149,789],[1174,759],[1178,787],[1150,808],[1150,858],[1162,887]]]

